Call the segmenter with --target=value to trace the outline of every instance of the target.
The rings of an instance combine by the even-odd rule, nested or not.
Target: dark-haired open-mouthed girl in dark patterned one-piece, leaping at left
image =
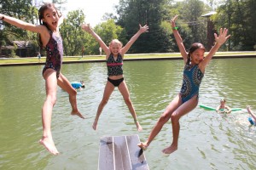
[[[72,115],[81,115],[77,108],[76,90],[68,82],[67,78],[61,74],[61,64],[63,56],[62,39],[59,26],[63,20],[60,12],[57,11],[53,3],[45,3],[38,11],[40,25],[35,26],[22,20],[17,20],[0,14],[0,20],[4,20],[13,26],[20,27],[27,31],[38,32],[40,46],[47,51],[46,63],[44,65],[43,77],[45,80],[46,99],[42,109],[43,137],[40,144],[49,150],[50,153],[57,155],[59,151],[55,148],[52,138],[50,123],[53,106],[56,101],[57,85],[67,91],[69,101],[72,106]]]

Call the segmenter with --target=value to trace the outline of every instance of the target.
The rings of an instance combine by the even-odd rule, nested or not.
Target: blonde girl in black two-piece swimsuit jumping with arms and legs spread
[[[137,126],[137,130],[142,131],[143,128],[141,127],[140,123],[137,121],[137,114],[131,103],[130,94],[123,77],[122,66],[123,66],[124,54],[128,51],[129,48],[131,48],[132,43],[135,42],[143,32],[148,31],[148,26],[140,25],[140,30],[137,31],[137,33],[133,37],[131,37],[131,40],[126,43],[125,47],[122,47],[123,44],[119,42],[119,40],[117,39],[112,40],[112,42],[110,42],[108,47],[105,44],[105,42],[102,41],[102,38],[99,37],[93,30],[91,30],[90,25],[84,24],[82,28],[84,29],[84,31],[89,32],[93,37],[96,38],[96,41],[99,42],[101,48],[106,54],[107,67],[108,67],[108,81],[104,90],[102,101],[98,106],[95,121],[92,125],[93,129],[96,130],[97,123],[104,106],[107,105],[108,99],[110,95],[113,93],[114,88],[118,87],[119,92],[123,95],[123,98],[125,99],[125,104],[128,106],[129,111],[131,112],[131,116],[134,119],[134,122]]]

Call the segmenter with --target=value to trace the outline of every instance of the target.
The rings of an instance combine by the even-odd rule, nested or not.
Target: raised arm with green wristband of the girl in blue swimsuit
[[[177,20],[177,14],[171,20],[172,32],[173,32],[173,35],[174,35],[175,40],[177,42],[177,47],[179,49],[179,52],[181,53],[181,55],[183,57],[184,63],[186,63],[188,54],[187,54],[186,49],[183,45],[183,39],[182,39],[182,37],[180,37],[180,35],[177,31],[177,26],[175,24],[176,20]]]

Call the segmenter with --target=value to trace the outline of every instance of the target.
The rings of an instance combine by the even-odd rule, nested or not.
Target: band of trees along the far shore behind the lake
[[[54,3],[61,10],[64,0]],[[220,27],[230,30],[230,40],[222,51],[254,51],[256,49],[256,1],[255,0],[119,0],[114,13],[105,14],[102,23],[93,29],[104,42],[118,38],[124,44],[139,29],[139,24],[149,26],[131,47],[128,53],[169,53],[177,52],[177,45],[172,36],[170,20],[179,15],[177,26],[183,37],[185,47],[192,42],[202,42],[207,46],[207,23],[211,20],[212,32]],[[211,16],[202,17],[211,11]],[[33,7],[31,0],[0,0],[0,13],[14,16],[33,24],[38,24],[38,8]],[[81,30],[86,21],[82,10],[74,10],[67,14],[61,25],[65,55],[99,54],[99,45],[93,37]],[[13,41],[29,41],[29,56],[38,51],[37,34],[23,31],[15,26],[0,21],[0,55],[3,48]],[[9,56],[15,55],[15,48],[5,48]]]

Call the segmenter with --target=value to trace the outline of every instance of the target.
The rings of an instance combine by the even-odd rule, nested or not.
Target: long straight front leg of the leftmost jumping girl
[[[43,122],[43,137],[39,143],[43,144],[44,147],[49,150],[50,153],[57,155],[58,150],[55,148],[55,143],[52,139],[50,130],[52,109],[56,102],[56,91],[57,91],[57,78],[56,72],[52,69],[47,69],[44,72],[45,88],[46,88],[46,99],[44,101],[42,109],[42,122]]]

